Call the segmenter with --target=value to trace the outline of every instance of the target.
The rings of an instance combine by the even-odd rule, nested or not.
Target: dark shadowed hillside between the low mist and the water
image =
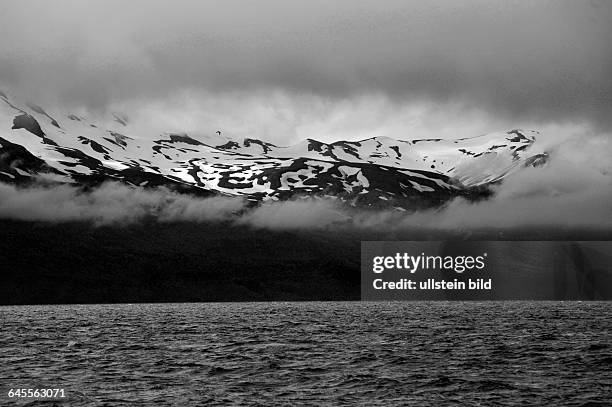
[[[92,227],[0,221],[0,303],[357,300],[361,240],[468,238],[607,240],[611,236],[584,231],[442,235],[283,232],[223,223]],[[517,286],[520,298],[521,287],[529,281],[509,284]],[[530,290],[537,298],[547,288]],[[593,298],[601,299],[601,287],[597,290]],[[571,292],[575,290],[556,290],[554,296],[576,299],[568,297]],[[581,295],[590,299],[592,294]]]

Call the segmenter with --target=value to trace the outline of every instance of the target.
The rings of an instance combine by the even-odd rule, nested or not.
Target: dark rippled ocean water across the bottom
[[[0,323],[2,406],[612,401],[605,302],[15,306]]]

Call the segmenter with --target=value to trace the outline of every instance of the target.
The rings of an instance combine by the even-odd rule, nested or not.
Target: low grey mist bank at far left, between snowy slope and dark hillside
[[[105,225],[154,217],[160,222],[206,222],[226,220],[242,207],[242,199],[203,199],[165,188],[147,190],[116,182],[88,192],[69,185],[18,188],[0,184],[0,216],[18,220]]]

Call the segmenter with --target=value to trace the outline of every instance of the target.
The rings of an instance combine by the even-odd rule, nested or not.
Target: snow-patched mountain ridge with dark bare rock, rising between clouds
[[[115,180],[253,202],[315,195],[409,209],[481,196],[491,183],[547,157],[533,148],[538,133],[523,130],[454,140],[307,139],[285,147],[214,133],[130,134],[120,114],[108,127],[0,92],[0,182]]]

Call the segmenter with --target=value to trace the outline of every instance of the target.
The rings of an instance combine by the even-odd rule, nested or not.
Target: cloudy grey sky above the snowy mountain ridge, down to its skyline
[[[610,44],[601,0],[2,0],[0,87],[151,137],[608,137]]]

